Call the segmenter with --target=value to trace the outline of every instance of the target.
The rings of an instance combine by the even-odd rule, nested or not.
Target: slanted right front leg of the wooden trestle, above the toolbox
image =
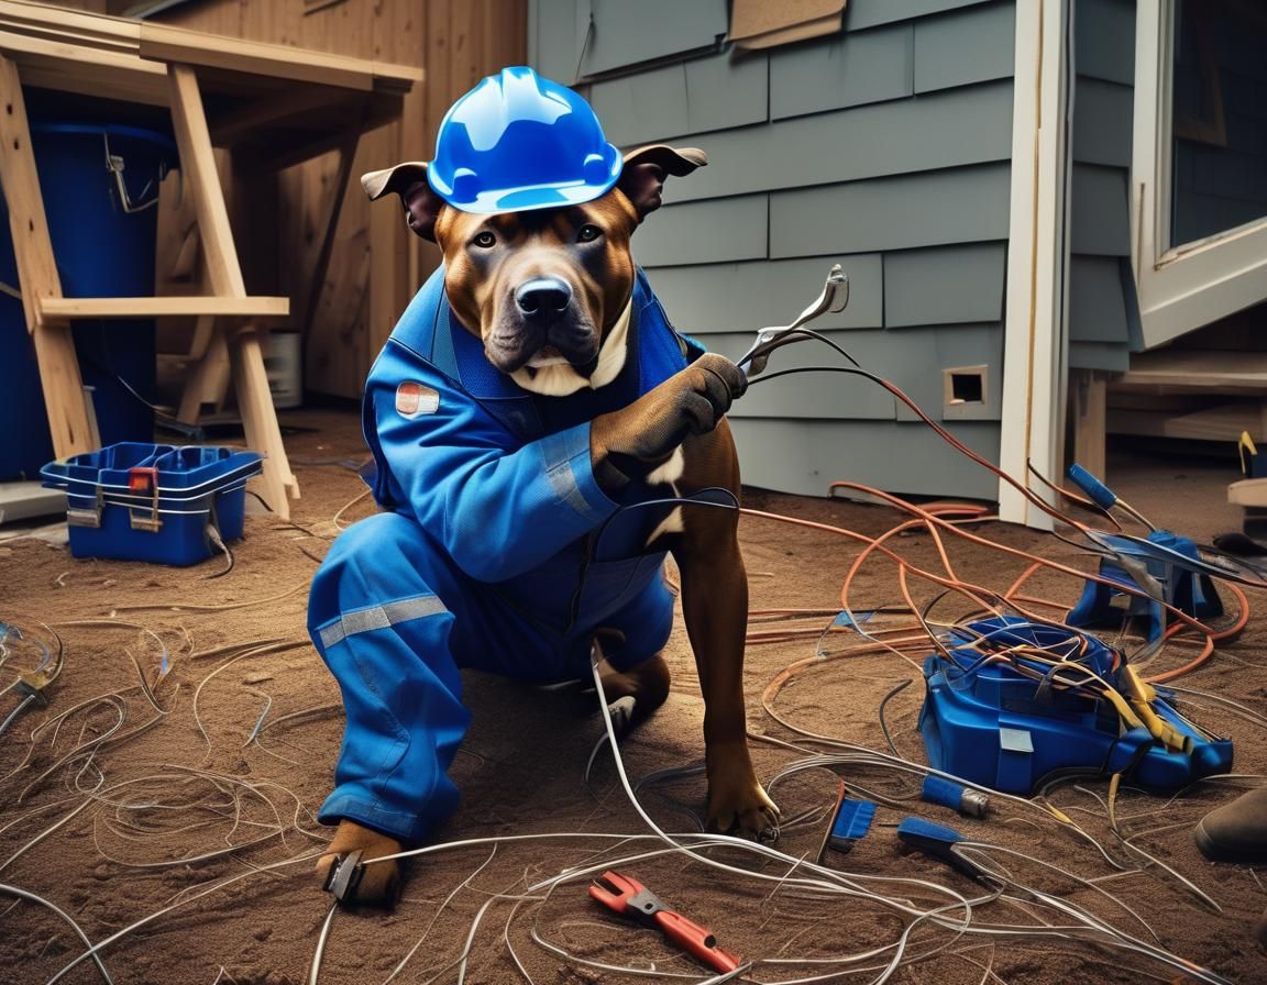
[[[246,298],[246,284],[233,246],[233,230],[215,168],[198,76],[185,65],[170,65],[167,72],[180,166],[194,199],[212,290],[220,296]],[[247,323],[233,333],[229,339],[229,360],[247,444],[265,455],[264,499],[275,513],[289,518],[288,492],[298,499],[299,484],[286,460],[277,415],[269,395],[262,348],[253,324]]]

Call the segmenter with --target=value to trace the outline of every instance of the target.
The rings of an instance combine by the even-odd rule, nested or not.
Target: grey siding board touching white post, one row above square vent
[[[997,322],[1003,317],[1003,243],[884,254],[884,327]]]

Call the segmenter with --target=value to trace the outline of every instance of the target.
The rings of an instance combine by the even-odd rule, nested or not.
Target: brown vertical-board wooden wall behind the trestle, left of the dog
[[[108,6],[103,0],[63,5],[96,13]],[[426,70],[426,81],[407,97],[402,119],[361,139],[305,341],[305,387],[359,396],[397,317],[438,263],[435,247],[409,234],[394,203],[371,208],[360,175],[398,161],[428,160],[436,127],[452,101],[502,66],[525,63],[527,0],[198,0],[153,19]],[[293,299],[295,327],[305,320],[336,177],[334,153],[289,168],[279,181],[276,214],[253,203],[236,230],[243,246],[267,243],[271,252],[276,241],[275,265],[269,257],[258,258],[255,270],[248,266],[245,273],[250,282],[252,272],[271,277],[276,271],[277,289]],[[260,229],[261,222],[276,223],[275,235]],[[250,249],[242,252],[250,257]]]

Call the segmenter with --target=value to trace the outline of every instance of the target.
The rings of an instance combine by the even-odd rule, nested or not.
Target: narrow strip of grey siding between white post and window
[[[1123,371],[1131,327],[1134,0],[1076,0],[1069,185],[1069,368]]]

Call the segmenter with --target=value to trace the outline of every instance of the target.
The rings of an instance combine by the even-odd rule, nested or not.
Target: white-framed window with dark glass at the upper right
[[[1267,298],[1267,8],[1140,0],[1131,225],[1153,347]]]

